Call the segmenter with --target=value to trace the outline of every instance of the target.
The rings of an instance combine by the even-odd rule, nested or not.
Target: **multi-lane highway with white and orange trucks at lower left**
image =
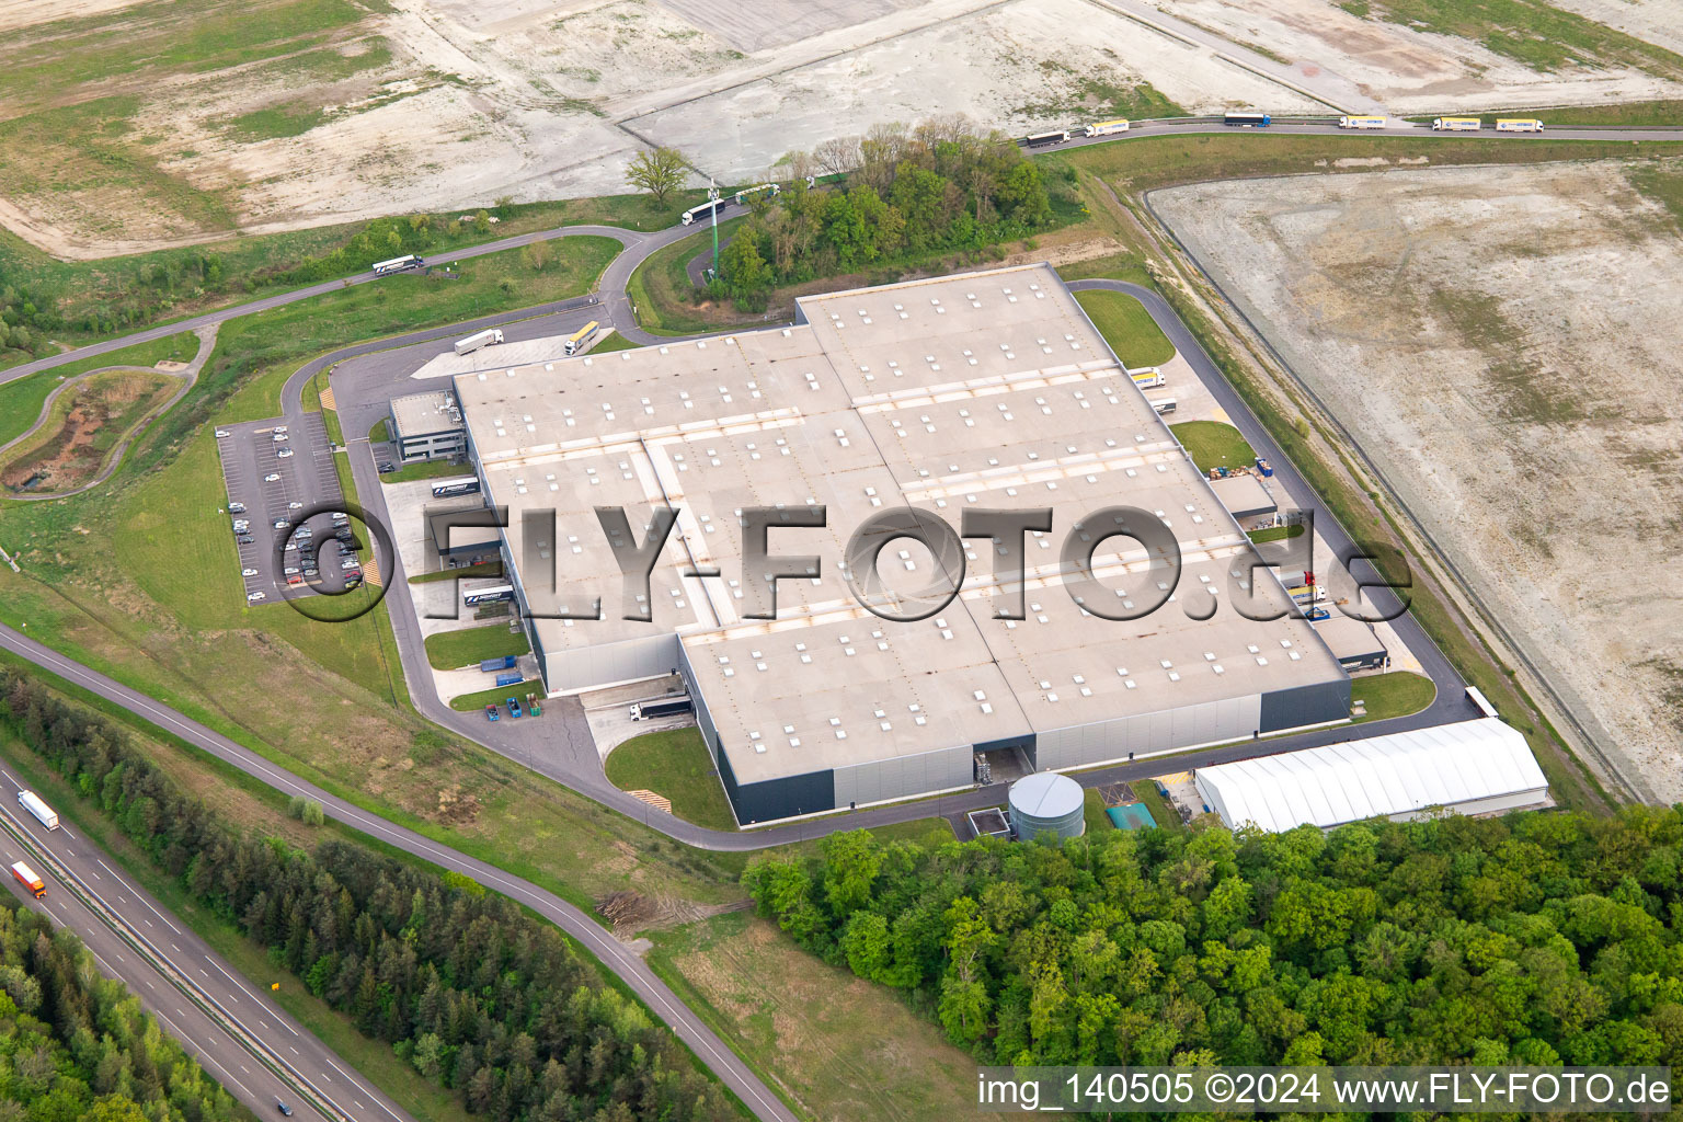
[[[69,826],[49,831],[19,809],[17,777],[3,765],[0,777],[8,784],[0,791],[0,860],[8,866],[24,861],[47,885],[47,898],[37,900],[8,870],[13,895],[74,930],[99,969],[126,984],[252,1114],[281,1117],[276,1109],[281,1100],[301,1122],[414,1122],[268,994],[241,979],[148,892],[118,873],[93,843]],[[119,927],[113,927],[113,917]],[[168,969],[148,955],[163,959]],[[288,977],[286,984],[298,982]],[[261,1046],[254,1050],[242,1038]]]

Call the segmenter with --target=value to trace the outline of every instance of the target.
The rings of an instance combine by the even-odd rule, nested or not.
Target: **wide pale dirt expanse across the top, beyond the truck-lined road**
[[[1609,20],[1624,5],[1572,2]],[[1370,91],[1394,109],[1683,96],[1683,82],[1621,64],[1533,71],[1330,0],[1160,7],[1217,32],[1225,54],[1242,54],[1227,40],[1252,44],[1291,59],[1299,86]],[[1171,104],[1331,111],[1126,12],[1156,8],[0,0],[0,145],[22,153],[0,161],[0,224],[88,259],[503,195],[616,193],[651,143],[751,182],[793,150],[889,119],[966,113],[1022,133]]]

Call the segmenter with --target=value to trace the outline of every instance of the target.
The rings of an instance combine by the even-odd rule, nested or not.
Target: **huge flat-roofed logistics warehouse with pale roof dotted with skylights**
[[[793,326],[463,373],[456,397],[549,690],[680,671],[744,824],[966,787],[978,750],[1072,769],[1348,717],[1338,661],[1047,266],[808,296]],[[779,505],[828,525],[771,530],[772,557],[815,562],[752,619],[739,513]],[[603,506],[640,542],[655,508],[678,511],[648,602],[621,604]],[[1075,527],[1109,506],[1178,540],[1178,584],[1138,542]],[[843,548],[900,508],[954,532],[969,508],[1050,508],[1023,617],[995,617],[1010,597],[986,540],[926,619],[862,607]],[[1087,612],[1072,533],[1104,542],[1087,594],[1107,614],[1171,599]],[[907,595],[942,577],[909,538],[877,572]],[[597,601],[603,619],[554,617]]]

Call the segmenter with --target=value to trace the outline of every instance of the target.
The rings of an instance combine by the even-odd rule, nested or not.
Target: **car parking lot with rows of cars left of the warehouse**
[[[360,565],[343,565],[357,557],[352,545],[335,538],[343,493],[320,414],[220,426],[217,451],[247,602],[279,601],[288,587],[340,592],[362,579]],[[367,545],[353,532],[352,542]]]

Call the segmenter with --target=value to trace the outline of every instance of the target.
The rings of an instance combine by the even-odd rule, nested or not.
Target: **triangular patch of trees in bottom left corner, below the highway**
[[[251,1115],[69,930],[0,902],[0,1117],[224,1122]]]

